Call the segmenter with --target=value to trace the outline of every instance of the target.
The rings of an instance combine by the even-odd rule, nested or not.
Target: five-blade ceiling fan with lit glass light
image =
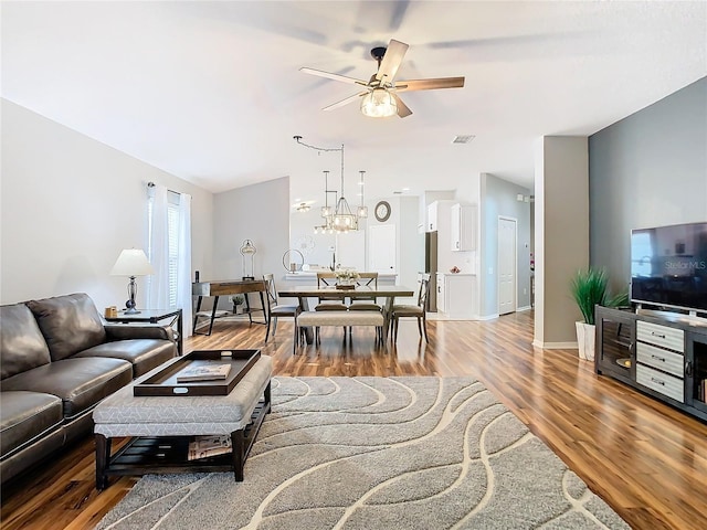
[[[432,91],[436,88],[460,88],[464,86],[464,77],[436,77],[428,80],[395,81],[395,74],[402,63],[408,44],[390,40],[388,47],[378,46],[371,50],[371,56],[378,61],[378,71],[366,82],[346,75],[321,72],[320,70],[299,68],[305,74],[318,75],[328,80],[340,81],[365,87],[362,92],[334,103],[323,110],[334,110],[361,98],[361,113],[366,116],[384,118],[397,114],[401,118],[410,116],[412,110],[405,105],[399,92]]]

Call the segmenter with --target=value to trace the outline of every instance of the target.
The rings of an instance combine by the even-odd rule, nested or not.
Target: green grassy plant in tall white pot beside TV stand
[[[577,324],[579,358],[594,360],[594,306],[616,307],[625,305],[627,293],[613,296],[609,288],[609,275],[604,268],[589,267],[578,271],[571,280],[571,293],[584,321]]]

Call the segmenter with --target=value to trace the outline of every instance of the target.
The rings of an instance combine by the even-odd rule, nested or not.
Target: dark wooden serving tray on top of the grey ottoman
[[[257,362],[261,350],[197,350],[179,358],[156,374],[133,388],[134,395],[229,395],[243,375]],[[223,380],[177,382],[182,370],[194,364],[230,363],[231,371]]]

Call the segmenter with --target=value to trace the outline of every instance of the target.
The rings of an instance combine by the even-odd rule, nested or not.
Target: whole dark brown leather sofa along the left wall
[[[0,306],[0,479],[93,430],[96,404],[177,354],[170,327],[107,325],[83,293]]]

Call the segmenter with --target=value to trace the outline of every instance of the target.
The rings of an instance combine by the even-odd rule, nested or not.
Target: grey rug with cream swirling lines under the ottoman
[[[472,378],[275,378],[232,474],[146,476],[99,529],[629,528]]]

